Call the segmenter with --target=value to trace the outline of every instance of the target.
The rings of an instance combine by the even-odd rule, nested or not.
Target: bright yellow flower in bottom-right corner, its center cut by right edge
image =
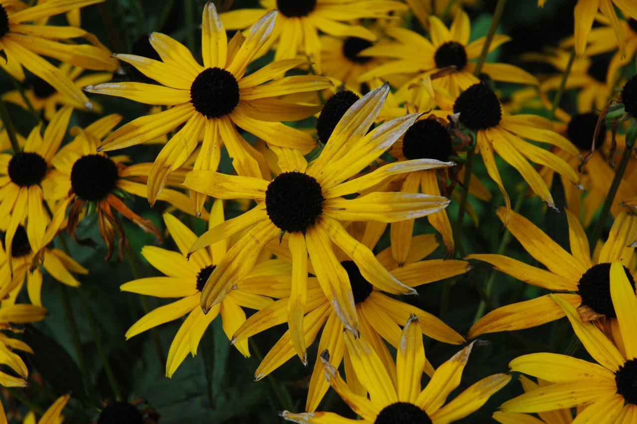
[[[610,299],[617,311],[611,341],[593,323],[582,321],[573,305],[552,296],[564,311],[584,348],[597,363],[556,353],[532,353],[514,359],[513,371],[555,383],[528,391],[500,406],[506,413],[538,413],[587,406],[578,422],[634,423],[637,417],[637,297],[620,261],[606,269]],[[581,420],[581,421],[580,421]]]

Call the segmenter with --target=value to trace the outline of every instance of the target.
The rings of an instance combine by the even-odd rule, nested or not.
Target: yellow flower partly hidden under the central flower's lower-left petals
[[[192,356],[197,354],[199,341],[213,319],[221,316],[224,332],[230,339],[245,321],[245,312],[241,309],[242,307],[258,310],[268,306],[273,300],[265,296],[268,293],[267,287],[259,294],[249,293],[241,289],[241,282],[238,281],[236,289],[231,290],[222,302],[217,303],[208,311],[208,314],[204,314],[199,307],[201,291],[210,274],[218,266],[219,261],[224,258],[227,251],[227,241],[220,240],[211,245],[209,251],[206,249],[197,251],[190,256],[190,260],[186,260],[185,254],[187,254],[190,245],[197,240],[197,236],[185,224],[170,214],[164,214],[164,222],[180,252],[169,251],[161,247],[145,246],[141,250],[141,255],[166,276],[130,281],[122,284],[120,289],[140,295],[180,298],[148,312],[126,332],[126,339],[130,339],[157,325],[187,315],[168,351],[166,377],[172,377],[188,353],[192,353]],[[222,201],[215,201],[209,223],[210,227],[224,223]],[[276,263],[276,260],[273,261]],[[256,268],[249,276],[267,274],[269,264],[271,264],[269,261],[261,263],[261,269],[265,271],[259,274],[259,268]],[[248,340],[243,340],[234,346],[243,356],[250,356]]]

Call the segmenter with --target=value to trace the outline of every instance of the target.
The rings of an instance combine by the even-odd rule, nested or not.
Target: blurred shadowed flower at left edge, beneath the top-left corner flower
[[[58,66],[58,69],[80,90],[85,85],[101,84],[110,81],[113,77],[113,73],[111,72],[84,73],[84,69],[78,66],[72,66],[68,63],[62,63]],[[10,101],[11,103],[20,105],[24,109],[28,109],[29,105],[31,105],[36,112],[43,111],[43,115],[47,121],[52,119],[59,106],[71,105],[78,107],[76,101],[69,99],[64,93],[57,91],[42,78],[34,79],[31,88],[25,90],[24,94],[18,90],[12,90],[4,93],[2,98],[4,101]],[[28,104],[27,101],[29,101]],[[102,108],[99,103],[92,101],[91,104],[93,112],[101,113]]]

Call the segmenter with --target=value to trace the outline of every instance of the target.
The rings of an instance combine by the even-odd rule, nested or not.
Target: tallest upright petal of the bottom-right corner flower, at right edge
[[[637,297],[620,261],[610,266],[610,297],[619,321],[626,358],[637,358]]]

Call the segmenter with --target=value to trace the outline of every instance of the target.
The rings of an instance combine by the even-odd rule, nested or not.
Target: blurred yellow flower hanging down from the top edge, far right
[[[543,7],[547,0],[538,0],[538,6]],[[613,4],[614,3],[614,4]],[[622,11],[624,16],[637,18],[637,4],[631,0],[578,0],[573,9],[575,17],[574,42],[575,53],[582,56],[586,51],[586,43],[589,40],[590,30],[595,21],[598,11],[602,13],[610,22],[615,33],[615,39],[619,44],[622,55],[626,54],[626,40],[624,39],[624,28],[621,26],[615,6]]]

